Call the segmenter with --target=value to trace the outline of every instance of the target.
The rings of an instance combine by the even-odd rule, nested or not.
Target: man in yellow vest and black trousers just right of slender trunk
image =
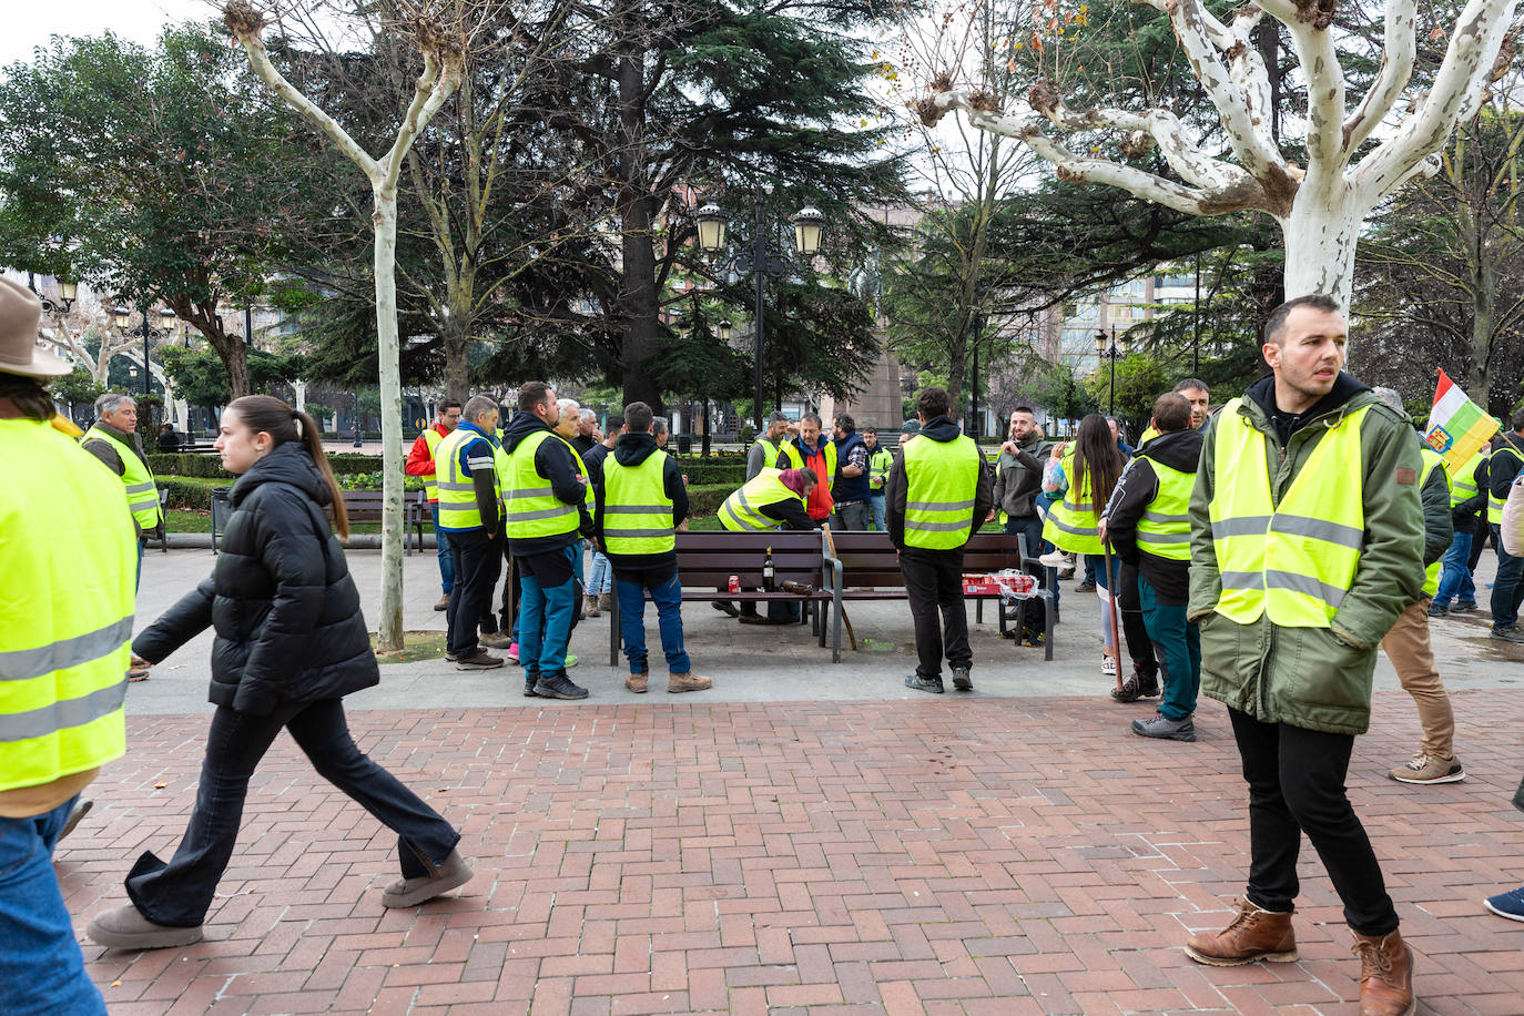
[[[460,423],[434,449],[439,527],[450,539],[456,582],[445,612],[445,660],[457,670],[491,670],[501,657],[482,647],[482,615],[503,570],[501,474],[497,466],[497,402],[466,399]]]

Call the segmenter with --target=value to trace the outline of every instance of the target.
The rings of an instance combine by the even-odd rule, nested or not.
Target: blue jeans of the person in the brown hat
[[[12,1016],[105,1016],[53,874],[58,832],[76,800],[0,818],[0,993]]]

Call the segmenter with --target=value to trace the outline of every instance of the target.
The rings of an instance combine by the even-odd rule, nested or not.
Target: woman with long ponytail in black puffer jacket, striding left
[[[361,754],[340,699],[379,681],[360,594],[328,527],[349,519],[317,425],[280,399],[251,395],[223,413],[216,449],[242,474],[212,577],[148,631],[133,652],[152,663],[212,625],[212,692],[201,786],[174,859],[145,851],[126,876],[126,906],[90,922],[90,938],[117,949],[184,946],[201,922],[238,839],[255,766],[280,728],[319,774],[398,835],[402,877],[383,906],[415,906],[465,885],[460,833],[396,777]]]

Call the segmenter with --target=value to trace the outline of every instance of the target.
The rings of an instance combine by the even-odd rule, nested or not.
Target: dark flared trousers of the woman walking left
[[[398,835],[404,879],[437,871],[460,842],[460,833],[439,812],[360,751],[338,699],[288,704],[268,716],[219,705],[206,736],[201,784],[184,839],[169,864],[145,851],[126,876],[126,894],[143,917],[169,928],[195,928],[206,919],[233,856],[248,778],[282,727],[320,777]]]

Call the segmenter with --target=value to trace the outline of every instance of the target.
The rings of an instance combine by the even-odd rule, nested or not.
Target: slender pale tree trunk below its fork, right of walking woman
[[[396,335],[396,187],[375,187],[376,352],[381,367],[381,617],[376,650],[402,649],[402,369]]]

